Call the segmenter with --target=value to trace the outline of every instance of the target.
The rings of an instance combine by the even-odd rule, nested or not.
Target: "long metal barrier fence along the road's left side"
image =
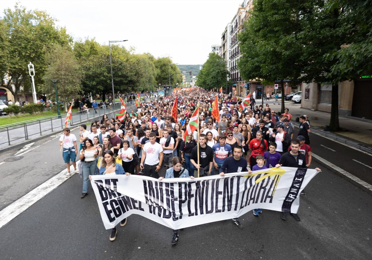
[[[126,102],[126,105],[128,113],[135,109],[135,101],[133,100]],[[115,117],[115,113],[120,110],[120,107],[121,103],[116,103],[112,105],[112,109],[110,109],[109,106],[106,106],[97,108],[96,110],[90,108],[89,113],[85,111],[74,112],[71,114],[71,122],[68,126],[76,126],[79,123],[89,121],[93,122],[95,119],[101,120],[104,114],[112,114],[112,117]],[[64,128],[66,115],[67,114],[62,114],[61,116],[53,116],[41,118],[39,120],[29,120],[22,123],[1,126],[0,148],[22,143],[25,140],[35,139],[43,134],[49,134],[54,131],[60,132],[61,129]]]

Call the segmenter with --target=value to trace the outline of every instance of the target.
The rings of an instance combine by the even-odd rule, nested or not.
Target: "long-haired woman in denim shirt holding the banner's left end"
[[[117,174],[125,174],[126,176],[131,175],[129,172],[125,172],[123,166],[119,163],[116,163],[116,158],[114,153],[111,150],[107,150],[103,152],[105,156],[103,156],[103,160],[101,163],[101,169],[99,170],[99,175],[117,175]],[[89,180],[92,181],[92,175],[89,175]],[[126,224],[126,218],[120,222],[120,226],[124,227]],[[116,227],[112,228],[110,241],[114,241],[116,239],[116,234],[118,231]]]

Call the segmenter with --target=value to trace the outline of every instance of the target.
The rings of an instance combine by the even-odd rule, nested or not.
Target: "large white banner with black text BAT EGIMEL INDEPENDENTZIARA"
[[[106,229],[138,214],[173,229],[240,217],[255,208],[297,213],[313,169],[271,168],[202,178],[157,179],[94,175],[92,186]]]

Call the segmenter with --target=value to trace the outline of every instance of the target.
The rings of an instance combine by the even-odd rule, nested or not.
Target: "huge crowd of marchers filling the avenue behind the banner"
[[[218,104],[214,104],[216,96]],[[231,93],[193,88],[149,99],[137,110],[127,111],[122,121],[103,115],[101,120],[92,122],[90,129],[82,124],[79,140],[65,128],[60,145],[67,166],[66,177],[71,175],[72,162],[83,178],[84,198],[88,195],[90,176],[97,174],[136,174],[161,181],[280,166],[310,167],[310,121],[306,115],[299,118],[298,135],[294,137],[288,108],[280,113],[269,104],[254,105],[253,98],[242,102]],[[197,107],[199,113],[192,117]],[[76,168],[77,155],[80,169]],[[254,216],[260,213],[261,209],[253,210]],[[300,221],[297,214],[291,215]],[[286,220],[285,212],[280,217]],[[124,226],[126,221],[120,225]],[[237,218],[232,222],[243,228]],[[116,234],[113,228],[111,241]],[[173,230],[171,243],[176,244],[178,238],[178,230]]]

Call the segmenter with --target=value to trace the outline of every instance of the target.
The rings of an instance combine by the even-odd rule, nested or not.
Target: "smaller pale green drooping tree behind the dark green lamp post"
[[[69,47],[56,46],[54,50],[47,53],[46,60],[49,64],[44,74],[44,85],[41,87],[43,93],[51,100],[55,100],[54,85],[51,79],[58,79],[58,97],[64,101],[65,111],[67,103],[72,101],[81,92],[81,68],[77,59]],[[59,100],[61,101],[61,100]]]

